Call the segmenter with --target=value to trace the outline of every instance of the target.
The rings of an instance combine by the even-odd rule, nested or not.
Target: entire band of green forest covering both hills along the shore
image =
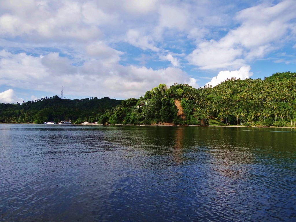
[[[182,115],[178,115],[181,103]],[[0,104],[0,121],[72,120],[99,124],[295,126],[296,73],[275,73],[261,79],[226,79],[200,89],[165,84],[139,99],[41,99],[23,104]]]

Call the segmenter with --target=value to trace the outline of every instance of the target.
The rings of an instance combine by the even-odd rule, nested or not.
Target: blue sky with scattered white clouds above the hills
[[[1,0],[0,103],[296,72],[295,0]]]

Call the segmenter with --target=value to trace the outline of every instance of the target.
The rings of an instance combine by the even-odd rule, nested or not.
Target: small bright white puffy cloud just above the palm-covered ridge
[[[242,66],[239,70],[234,71],[221,71],[218,73],[217,76],[214,76],[212,80],[205,85],[212,85],[212,87],[217,86],[221,82],[224,82],[227,78],[231,79],[232,77],[237,79],[247,79],[250,78],[253,73],[250,72],[251,67],[250,66]]]

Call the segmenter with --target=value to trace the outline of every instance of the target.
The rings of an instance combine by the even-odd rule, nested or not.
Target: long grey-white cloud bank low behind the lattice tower
[[[114,52],[116,54],[116,51]],[[56,95],[59,95],[62,86],[65,95],[109,96],[121,99],[142,96],[159,83],[168,86],[175,82],[192,83],[198,87],[194,78],[176,67],[153,70],[134,65],[123,66],[118,64],[118,61],[106,63],[101,59],[90,59],[77,67],[58,53],[32,57],[24,53],[11,54],[3,51],[1,55],[1,83]],[[26,67],[18,66],[19,60],[28,61]],[[11,70],[13,66],[15,68]],[[35,74],[25,70],[35,70]],[[19,81],[20,78],[22,81]]]

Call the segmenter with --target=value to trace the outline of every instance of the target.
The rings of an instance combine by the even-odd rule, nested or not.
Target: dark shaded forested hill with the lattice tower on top
[[[122,100],[96,97],[86,99],[61,99],[45,97],[22,104],[0,104],[0,122],[44,123],[71,120],[73,123],[95,122],[108,109],[121,104]]]

